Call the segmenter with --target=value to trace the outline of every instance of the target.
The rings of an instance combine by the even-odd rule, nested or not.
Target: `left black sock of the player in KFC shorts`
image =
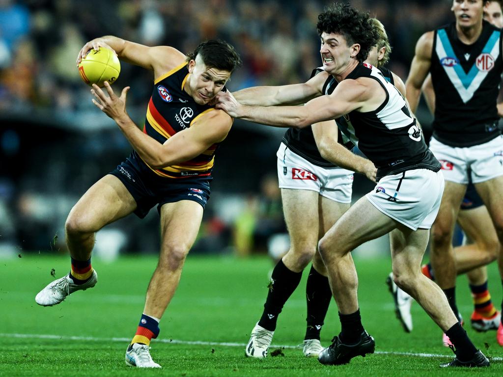
[[[283,260],[280,260],[274,267],[271,276],[271,285],[269,293],[264,304],[264,313],[260,318],[259,325],[269,331],[276,330],[276,321],[281,313],[283,306],[293,291],[297,288],[302,277],[301,272],[293,272],[285,266]]]

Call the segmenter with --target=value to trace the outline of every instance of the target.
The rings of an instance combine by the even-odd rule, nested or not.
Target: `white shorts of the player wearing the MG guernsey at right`
[[[430,150],[442,164],[446,180],[468,184],[471,170],[473,183],[503,175],[503,135],[472,147],[450,147],[437,139],[430,140]]]

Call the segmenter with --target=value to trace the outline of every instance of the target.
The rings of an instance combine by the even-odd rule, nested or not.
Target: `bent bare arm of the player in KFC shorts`
[[[354,154],[337,141],[336,121],[315,123],[312,130],[321,157],[334,165],[365,174],[375,182],[377,169],[372,161]]]

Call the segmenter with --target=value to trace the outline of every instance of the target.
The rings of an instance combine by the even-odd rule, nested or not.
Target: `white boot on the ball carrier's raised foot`
[[[85,291],[88,288],[93,288],[96,286],[98,281],[98,273],[93,270],[93,274],[84,284],[73,284],[73,280],[69,275],[63,276],[57,280],[51,282],[47,287],[38,293],[35,297],[35,301],[38,305],[42,306],[53,306],[64,301],[66,296],[75,291]]]

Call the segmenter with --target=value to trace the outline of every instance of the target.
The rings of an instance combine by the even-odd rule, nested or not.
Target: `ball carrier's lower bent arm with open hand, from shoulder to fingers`
[[[223,111],[210,111],[195,121],[191,127],[177,132],[164,144],[144,134],[126,113],[126,94],[129,87],[117,97],[108,82],[105,83],[108,96],[97,85],[93,103],[112,118],[141,159],[150,167],[158,169],[190,160],[215,143],[225,139],[232,126],[232,119]]]

